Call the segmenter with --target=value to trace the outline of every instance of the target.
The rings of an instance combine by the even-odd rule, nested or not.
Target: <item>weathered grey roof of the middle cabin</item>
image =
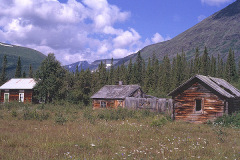
[[[136,90],[141,88],[139,85],[105,85],[96,92],[92,99],[125,99],[131,96]]]

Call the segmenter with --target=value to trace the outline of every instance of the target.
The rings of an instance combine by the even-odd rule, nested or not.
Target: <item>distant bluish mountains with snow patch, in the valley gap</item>
[[[121,59],[114,59],[113,60],[113,65],[115,65],[116,63],[118,63]],[[76,71],[76,67],[78,66],[78,70],[82,69],[86,70],[86,69],[90,69],[91,71],[95,71],[98,68],[98,65],[101,64],[101,62],[106,63],[106,68],[109,68],[111,66],[111,59],[101,59],[101,60],[96,60],[92,63],[88,63],[87,61],[79,61],[76,63],[72,63],[69,65],[64,66],[66,69],[68,69],[70,72],[75,72]]]

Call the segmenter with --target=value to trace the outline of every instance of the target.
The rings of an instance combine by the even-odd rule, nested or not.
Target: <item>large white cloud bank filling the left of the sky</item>
[[[130,16],[107,0],[1,0],[0,42],[55,53],[63,65],[120,58],[151,44],[134,28],[115,27]]]

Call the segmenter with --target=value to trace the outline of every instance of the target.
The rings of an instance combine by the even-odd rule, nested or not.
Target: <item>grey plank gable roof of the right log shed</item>
[[[205,83],[208,85],[211,89],[215,90],[217,93],[221,94],[222,96],[226,98],[236,98],[240,97],[240,91],[235,88],[233,85],[225,81],[224,79],[221,78],[215,78],[215,77],[210,77],[210,76],[203,76],[203,75],[195,75],[189,80],[187,80],[185,83],[177,87],[175,90],[170,92],[168,95],[172,96],[175,95],[176,93],[181,92],[182,90],[185,89],[188,84],[193,82],[194,80],[200,80],[201,82]]]

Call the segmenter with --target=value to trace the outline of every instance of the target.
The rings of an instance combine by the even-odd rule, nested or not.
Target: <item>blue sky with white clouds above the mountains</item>
[[[62,65],[122,58],[170,40],[235,0],[0,0],[0,42]]]

